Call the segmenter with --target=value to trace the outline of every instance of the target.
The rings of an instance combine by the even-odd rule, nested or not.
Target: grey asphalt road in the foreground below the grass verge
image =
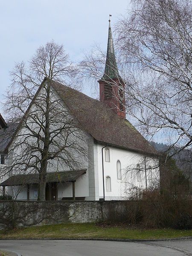
[[[0,249],[22,256],[192,256],[192,240],[116,242],[0,240]]]

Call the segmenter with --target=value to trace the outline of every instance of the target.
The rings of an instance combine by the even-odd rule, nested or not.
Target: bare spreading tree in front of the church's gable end
[[[21,62],[11,73],[5,110],[12,122],[20,124],[9,148],[12,163],[6,165],[6,172],[38,173],[40,201],[45,200],[48,171],[82,168],[86,158],[82,131],[52,87],[53,81],[73,84],[76,73],[63,46],[53,41],[39,47],[28,67]]]

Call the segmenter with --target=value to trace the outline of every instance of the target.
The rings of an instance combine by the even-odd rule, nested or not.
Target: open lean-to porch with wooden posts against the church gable
[[[85,173],[86,169],[47,173],[46,201],[83,200],[83,197],[76,195],[76,180]],[[3,186],[4,195],[6,187],[12,188],[12,191],[13,188],[16,188],[19,195],[16,200],[36,201],[38,198],[38,181],[39,174],[13,175],[0,183],[0,186]],[[19,189],[20,192],[18,192]],[[68,196],[63,196],[65,189],[68,191]],[[22,198],[21,195],[23,199],[20,199]]]

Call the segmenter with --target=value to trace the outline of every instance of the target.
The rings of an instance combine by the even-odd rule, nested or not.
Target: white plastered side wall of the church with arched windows
[[[103,198],[102,147],[104,147],[104,145],[95,144],[95,148],[97,149],[95,168],[98,170],[99,180],[99,197],[96,198],[96,200]],[[146,181],[144,163],[146,163],[147,187],[149,187],[154,180],[159,182],[159,161],[157,157],[146,157],[146,162],[144,162],[144,155],[142,154],[112,146],[108,146],[108,148],[110,150],[110,162],[105,161],[105,148],[103,150],[105,200],[128,199],[131,196],[133,187],[138,189],[145,189]],[[117,160],[119,160],[121,163],[122,179],[117,179]],[[137,181],[137,164],[140,164],[142,169],[140,172],[140,181]],[[148,169],[148,166],[151,166],[151,169]],[[111,192],[106,191],[107,176],[111,178]]]

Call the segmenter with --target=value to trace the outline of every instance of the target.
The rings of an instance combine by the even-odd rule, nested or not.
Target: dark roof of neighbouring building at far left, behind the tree
[[[17,124],[8,124],[8,128],[6,128],[6,131],[4,131],[3,129],[0,130],[0,153],[2,153],[6,149],[6,146],[12,139],[12,136],[16,131],[17,126]]]

